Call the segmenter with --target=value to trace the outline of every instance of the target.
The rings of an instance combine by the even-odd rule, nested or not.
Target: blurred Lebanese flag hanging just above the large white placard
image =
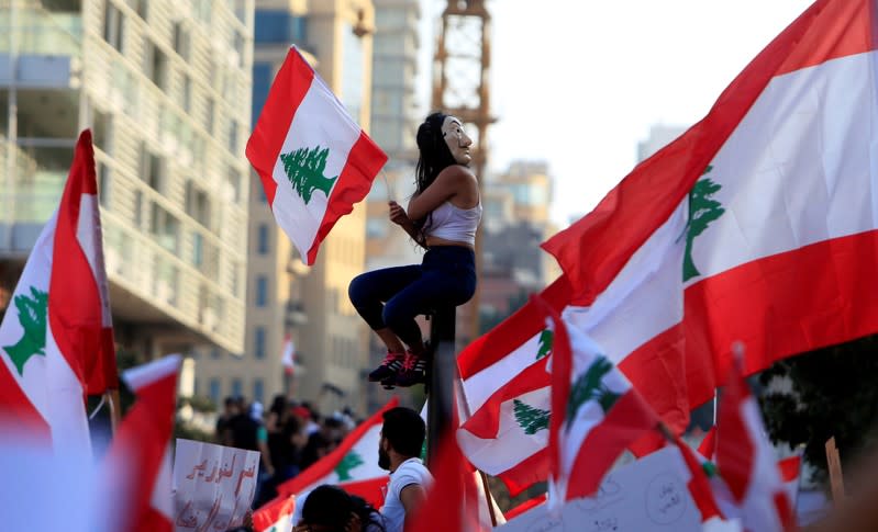
[[[548,507],[591,496],[620,454],[659,419],[586,333],[548,305],[552,355]]]

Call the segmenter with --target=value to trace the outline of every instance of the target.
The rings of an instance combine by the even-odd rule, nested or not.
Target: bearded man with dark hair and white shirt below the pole
[[[423,503],[426,488],[433,483],[420,459],[426,426],[411,408],[391,408],[382,417],[378,466],[390,472],[390,484],[381,514],[387,532],[402,532],[405,519]]]

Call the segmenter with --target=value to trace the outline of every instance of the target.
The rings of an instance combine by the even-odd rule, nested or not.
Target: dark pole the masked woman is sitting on
[[[456,356],[454,352],[455,307],[437,308],[430,324],[430,343],[433,351],[427,388],[426,461],[434,467],[442,438],[452,429],[454,378]]]

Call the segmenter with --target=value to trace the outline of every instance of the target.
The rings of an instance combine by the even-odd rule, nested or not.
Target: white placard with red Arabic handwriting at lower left
[[[177,532],[224,532],[241,525],[256,494],[259,453],[177,439],[174,527]]]

